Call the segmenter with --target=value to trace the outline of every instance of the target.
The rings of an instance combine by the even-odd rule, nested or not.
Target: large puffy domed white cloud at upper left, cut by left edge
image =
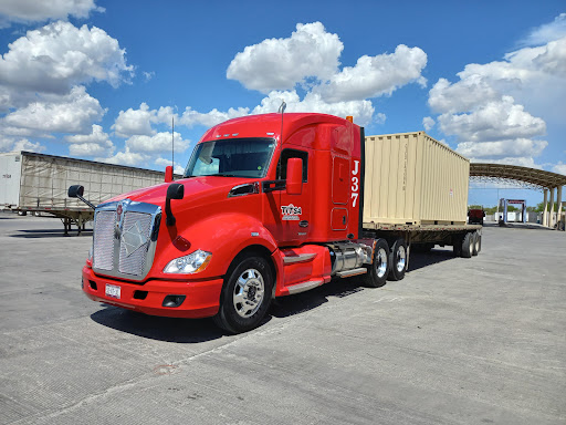
[[[0,56],[0,86],[15,97],[8,102],[11,105],[22,91],[65,94],[91,81],[106,81],[115,87],[133,74],[118,41],[96,27],[53,22],[28,31],[8,48]]]

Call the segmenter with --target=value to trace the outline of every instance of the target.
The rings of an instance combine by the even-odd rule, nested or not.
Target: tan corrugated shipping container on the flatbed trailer
[[[470,160],[424,132],[366,137],[364,227],[465,225]]]

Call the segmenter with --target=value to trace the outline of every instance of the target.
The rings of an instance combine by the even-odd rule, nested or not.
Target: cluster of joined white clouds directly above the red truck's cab
[[[427,54],[419,48],[399,44],[394,53],[364,55],[355,66],[339,70],[344,45],[337,34],[321,22],[298,23],[286,39],[269,39],[247,46],[230,63],[227,76],[245,87],[266,93],[253,114],[276,112],[284,100],[287,112],[319,112],[338,116],[354,115],[360,125],[382,124],[386,116],[375,117],[370,97],[391,95],[397,89],[417,82],[426,85],[421,72]],[[301,99],[296,85],[306,92]],[[228,113],[200,114],[187,108],[181,123],[214,125],[249,113],[248,108]]]

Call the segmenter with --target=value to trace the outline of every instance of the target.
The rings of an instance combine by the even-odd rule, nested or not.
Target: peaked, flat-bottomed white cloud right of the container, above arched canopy
[[[525,112],[511,96],[488,102],[469,114],[442,114],[438,121],[444,134],[457,135],[459,141],[524,138],[546,132],[545,122]]]

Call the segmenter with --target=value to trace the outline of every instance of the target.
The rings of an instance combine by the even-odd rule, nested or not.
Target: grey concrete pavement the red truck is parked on
[[[252,332],[90,301],[90,232],[0,214],[1,424],[564,424],[566,235],[485,227],[405,280],[287,297]]]

